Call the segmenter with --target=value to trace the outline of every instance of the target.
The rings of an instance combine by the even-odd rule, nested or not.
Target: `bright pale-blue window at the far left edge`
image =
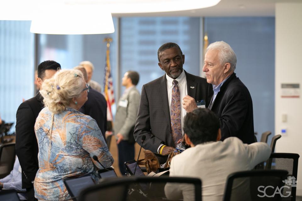
[[[34,96],[34,34],[30,26],[30,21],[0,20],[0,115],[5,122],[16,122],[22,100]]]

